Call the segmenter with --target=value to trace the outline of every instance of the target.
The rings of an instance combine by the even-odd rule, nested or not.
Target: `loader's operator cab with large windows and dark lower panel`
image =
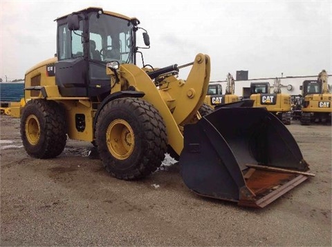
[[[55,81],[64,97],[109,95],[107,64],[136,63],[140,23],[102,8],[86,8],[57,20]],[[145,42],[146,43],[146,42]]]

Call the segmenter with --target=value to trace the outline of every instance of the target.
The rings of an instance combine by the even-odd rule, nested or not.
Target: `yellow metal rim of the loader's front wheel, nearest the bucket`
[[[133,152],[135,136],[133,129],[123,119],[111,122],[106,132],[106,141],[109,152],[116,159],[127,159]]]

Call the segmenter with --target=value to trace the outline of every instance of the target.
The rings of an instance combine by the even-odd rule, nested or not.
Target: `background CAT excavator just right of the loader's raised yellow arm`
[[[214,108],[215,106],[220,106],[225,103],[240,101],[240,97],[234,95],[234,90],[234,78],[230,73],[228,73],[225,95],[223,95],[223,88],[221,83],[210,82],[208,87],[208,94],[206,95],[204,102],[211,108]]]

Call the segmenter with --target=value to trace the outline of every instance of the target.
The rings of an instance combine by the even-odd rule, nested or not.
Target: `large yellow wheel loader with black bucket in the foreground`
[[[143,30],[145,48],[149,35],[138,19],[86,8],[56,21],[57,57],[26,72],[21,139],[28,155],[57,157],[67,136],[90,141],[112,176],[131,180],[151,175],[172,150],[190,190],[252,207],[311,175],[291,133],[266,109],[225,105],[199,113],[208,55],[139,68],[137,34]],[[187,66],[187,79],[178,79]]]

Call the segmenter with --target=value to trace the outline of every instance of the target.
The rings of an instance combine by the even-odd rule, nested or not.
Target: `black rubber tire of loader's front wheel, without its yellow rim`
[[[111,109],[121,109],[124,107],[131,109],[131,114],[136,116],[136,119],[138,119],[142,126],[142,132],[140,135],[143,135],[142,144],[145,150],[140,157],[137,157],[137,165],[134,168],[124,172],[118,172],[114,169],[117,162],[116,159],[109,152],[107,144],[101,141],[101,135],[104,135],[104,132],[100,130],[100,127],[102,119],[110,114]],[[107,172],[113,177],[124,180],[147,177],[147,175],[150,175],[157,170],[165,159],[165,152],[167,150],[165,123],[158,110],[147,101],[136,98],[122,98],[110,101],[101,110],[95,129],[95,137],[100,158],[102,159],[103,166],[106,168]]]

